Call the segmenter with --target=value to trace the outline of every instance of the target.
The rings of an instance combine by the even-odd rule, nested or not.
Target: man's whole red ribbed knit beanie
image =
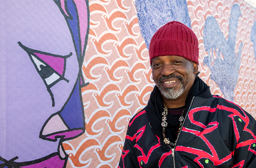
[[[150,64],[153,58],[164,55],[181,56],[199,64],[197,36],[189,27],[178,21],[166,23],[151,39]]]

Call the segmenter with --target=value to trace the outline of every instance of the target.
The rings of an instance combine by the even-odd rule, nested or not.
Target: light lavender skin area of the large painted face
[[[3,49],[3,52],[0,52],[0,69],[3,69],[0,75],[0,86],[3,86],[0,87],[0,156],[6,160],[18,156],[15,162],[32,164],[30,161],[58,152],[59,138],[56,142],[51,142],[39,138],[38,135],[49,117],[56,114],[69,99],[77,80],[79,64],[77,55],[70,54],[76,53],[72,35],[65,17],[55,2],[52,0],[0,0],[2,10],[0,50]],[[58,66],[55,70],[61,72],[62,76],[65,73],[65,78],[69,82],[62,80],[51,88],[55,100],[54,107],[45,83],[38,75],[28,53],[17,42],[38,50],[34,50],[37,53],[37,55],[34,54],[35,57],[47,61],[56,56],[51,60],[53,64],[56,62],[62,64],[62,69]],[[63,57],[50,53],[63,55]],[[67,64],[66,58],[69,58]],[[13,74],[15,77],[12,77]],[[78,100],[80,103],[79,98]],[[79,106],[82,108],[81,104]],[[72,113],[73,111],[70,111],[69,116],[72,117]],[[80,113],[83,111],[80,110]],[[84,123],[84,118],[80,120]],[[76,122],[76,118],[73,122]]]

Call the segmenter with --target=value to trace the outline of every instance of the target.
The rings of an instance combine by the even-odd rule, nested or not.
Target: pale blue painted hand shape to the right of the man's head
[[[210,68],[210,78],[217,83],[225,98],[231,101],[234,101],[233,91],[238,81],[243,47],[243,42],[241,42],[238,52],[234,52],[240,16],[239,4],[234,4],[230,13],[227,40],[213,16],[206,18],[203,29],[204,48],[208,52],[208,57],[204,57],[204,65]],[[211,61],[211,55],[214,55],[213,52],[216,53],[217,58]],[[214,64],[211,65],[211,62],[214,62]]]

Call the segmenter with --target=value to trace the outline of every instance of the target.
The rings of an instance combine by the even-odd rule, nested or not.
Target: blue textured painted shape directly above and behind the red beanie
[[[188,15],[187,2],[182,1],[153,1],[136,0],[137,16],[142,37],[147,49],[156,31],[169,21],[179,21],[191,29],[191,21]],[[148,29],[150,27],[150,29]]]

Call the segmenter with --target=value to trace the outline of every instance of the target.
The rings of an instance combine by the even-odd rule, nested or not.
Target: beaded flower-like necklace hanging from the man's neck
[[[179,126],[179,130],[178,130],[178,136],[180,134],[180,130],[181,130],[181,127],[182,127],[182,123],[183,123],[183,120],[184,120],[184,117],[183,117],[183,114],[184,114],[184,109],[183,109],[183,112],[179,118],[179,122],[180,122],[180,126]],[[165,128],[167,127],[167,116],[168,115],[168,110],[167,110],[167,107],[165,106],[165,104],[163,103],[163,112],[162,112],[162,123],[161,123],[161,126],[163,127],[163,142],[167,145],[170,145],[172,147],[175,147],[175,144],[177,142],[177,139],[178,139],[178,136],[177,136],[177,139],[174,143],[170,142],[169,141],[169,138],[165,137]]]

